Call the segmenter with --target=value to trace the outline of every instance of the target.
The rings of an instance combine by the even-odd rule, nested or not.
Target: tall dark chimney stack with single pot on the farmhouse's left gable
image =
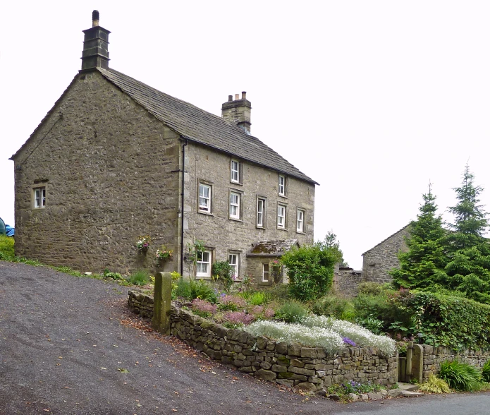
[[[109,30],[99,26],[99,12],[92,11],[92,28],[84,30],[82,71],[109,68]]]

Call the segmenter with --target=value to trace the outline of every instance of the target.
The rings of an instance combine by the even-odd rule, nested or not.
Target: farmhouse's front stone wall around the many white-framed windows
[[[300,245],[313,242],[314,185],[286,176],[286,197],[278,196],[278,172],[240,161],[240,184],[230,181],[230,163],[235,157],[189,143],[185,148],[184,242],[204,242],[213,260],[228,260],[228,253],[240,253],[239,277],[248,270],[247,251],[264,239],[298,239]],[[212,186],[211,214],[198,211],[199,183]],[[229,217],[230,191],[241,194],[240,219]],[[257,197],[266,199],[264,227],[257,227]],[[286,205],[286,229],[277,228],[278,203]],[[296,212],[305,210],[305,232],[296,231]],[[194,265],[184,267],[184,275],[194,275]],[[262,275],[262,269],[260,270]]]

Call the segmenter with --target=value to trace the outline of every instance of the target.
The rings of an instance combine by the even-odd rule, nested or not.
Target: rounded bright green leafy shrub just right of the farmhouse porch
[[[288,269],[290,294],[300,301],[326,294],[332,284],[333,267],[341,256],[338,246],[324,246],[322,243],[286,252],[281,263]]]

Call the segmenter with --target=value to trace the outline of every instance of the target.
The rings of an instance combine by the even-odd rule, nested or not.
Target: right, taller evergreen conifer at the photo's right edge
[[[486,212],[479,205],[481,186],[474,186],[474,176],[466,165],[463,183],[454,188],[458,203],[449,208],[455,217],[453,232],[446,237],[448,264],[439,281],[450,289],[463,291],[467,297],[490,303],[490,244],[484,238],[489,226]]]

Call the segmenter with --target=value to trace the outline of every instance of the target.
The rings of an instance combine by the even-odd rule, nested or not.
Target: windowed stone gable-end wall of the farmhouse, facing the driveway
[[[162,243],[178,252],[179,152],[176,133],[97,71],[78,74],[15,159],[16,255],[128,273]],[[148,257],[135,247],[146,234]]]

